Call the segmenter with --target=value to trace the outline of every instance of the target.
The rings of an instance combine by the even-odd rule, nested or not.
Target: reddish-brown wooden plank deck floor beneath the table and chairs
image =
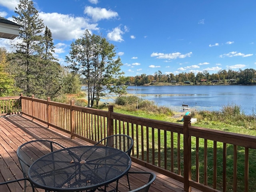
[[[70,136],[60,130],[50,128],[38,122],[34,122],[25,116],[8,116],[0,118],[0,182],[23,178],[23,174],[18,162],[16,150],[21,144],[30,140],[47,139],[59,142],[63,146],[71,147],[78,145],[92,145],[78,138],[70,139]],[[131,171],[151,171],[143,166],[132,162]],[[167,176],[155,172],[156,180],[150,187],[150,192],[182,192],[183,184]],[[143,176],[131,178],[132,186],[142,186]],[[115,183],[113,183],[114,186]],[[0,186],[1,192],[23,191],[23,182],[12,183],[8,187]],[[109,190],[112,184],[109,186]],[[136,187],[135,187],[136,188]],[[123,177],[119,180],[118,189],[120,192],[128,191],[127,179]],[[30,187],[27,192],[32,191]],[[44,191],[36,189],[36,191]],[[192,192],[197,190],[192,189]]]

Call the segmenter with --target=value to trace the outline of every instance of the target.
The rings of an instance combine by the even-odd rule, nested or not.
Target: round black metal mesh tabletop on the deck
[[[31,182],[53,191],[82,191],[114,182],[128,172],[130,157],[106,146],[76,146],[43,156],[29,168]]]

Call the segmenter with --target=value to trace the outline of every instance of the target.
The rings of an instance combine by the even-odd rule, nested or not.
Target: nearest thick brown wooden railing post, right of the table
[[[188,132],[188,127],[191,126],[191,117],[184,116],[183,134],[184,134],[184,191],[190,192],[191,186],[191,136]]]

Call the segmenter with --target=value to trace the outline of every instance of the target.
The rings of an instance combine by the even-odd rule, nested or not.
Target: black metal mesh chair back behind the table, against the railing
[[[99,142],[97,142],[94,145],[103,144],[108,147],[113,147],[119,150],[122,150],[126,152],[129,156],[132,151],[133,146],[133,139],[125,134],[116,134],[116,135],[110,135],[106,138],[103,138]]]

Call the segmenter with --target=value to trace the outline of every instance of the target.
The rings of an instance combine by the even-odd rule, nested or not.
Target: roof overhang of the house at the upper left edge
[[[0,38],[14,39],[19,36],[20,25],[0,17]]]

